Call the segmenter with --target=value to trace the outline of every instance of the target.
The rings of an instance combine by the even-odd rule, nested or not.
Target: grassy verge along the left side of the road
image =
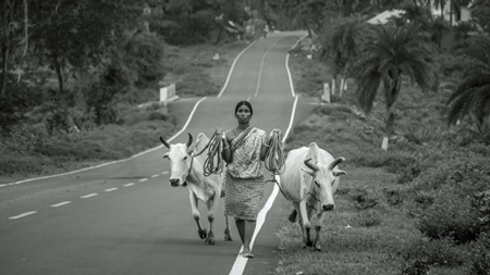
[[[162,84],[174,83],[177,96],[183,98],[218,95],[235,57],[246,46],[246,42],[169,46],[164,61],[168,74]],[[219,60],[212,59],[216,53],[220,54]],[[75,130],[72,126],[70,130],[50,132],[48,118],[56,114],[30,112],[28,120],[16,125],[10,137],[0,139],[0,184],[130,158],[159,146],[158,136],[172,136],[179,130],[175,118],[164,107],[137,107],[158,101],[157,88],[130,92],[119,98],[118,124],[96,126],[81,110],[74,109],[70,111],[71,116],[82,121],[82,128]]]

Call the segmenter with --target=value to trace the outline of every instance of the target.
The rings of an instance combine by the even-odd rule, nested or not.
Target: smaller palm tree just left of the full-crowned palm
[[[320,61],[330,63],[333,68],[332,93],[335,92],[336,75],[342,73],[340,95],[345,90],[347,72],[352,61],[357,57],[362,32],[364,29],[364,18],[360,16],[350,17],[336,24],[332,32],[323,37]]]

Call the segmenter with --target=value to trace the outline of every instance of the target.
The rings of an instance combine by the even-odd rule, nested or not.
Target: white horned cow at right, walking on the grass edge
[[[291,150],[285,161],[285,171],[281,174],[281,186],[284,197],[293,202],[294,211],[290,215],[292,223],[296,222],[299,213],[299,224],[303,229],[303,241],[306,247],[321,250],[319,245],[320,229],[326,211],[335,208],[333,193],[340,184],[339,176],[345,175],[344,171],[335,166],[345,161],[344,158],[333,159],[317,143],[309,147]],[[311,241],[310,230],[313,210],[317,212],[315,223],[316,236]]]

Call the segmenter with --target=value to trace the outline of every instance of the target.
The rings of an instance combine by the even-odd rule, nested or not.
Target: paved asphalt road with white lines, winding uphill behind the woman
[[[219,97],[172,103],[186,128],[171,142],[185,142],[187,132],[209,136],[216,127],[235,126],[233,111],[240,100],[252,102],[252,124],[267,133],[285,133],[293,107],[294,122],[304,118],[313,100],[299,98],[295,104],[285,66],[298,35],[274,34],[247,48]],[[98,168],[1,187],[0,274],[230,274],[241,249],[233,221],[234,241],[228,242],[220,207],[217,243],[205,245],[197,236],[186,188],[168,184],[164,152],[158,148]],[[268,184],[264,204],[272,190]],[[284,218],[284,202],[282,195],[274,200],[255,241],[256,258],[242,262],[244,274],[267,274],[275,266],[274,233]],[[199,209],[207,224],[201,203]]]

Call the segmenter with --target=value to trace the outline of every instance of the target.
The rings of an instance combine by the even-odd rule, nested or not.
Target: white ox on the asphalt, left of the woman
[[[169,152],[163,154],[164,159],[170,160],[170,185],[173,187],[187,186],[192,213],[197,224],[197,233],[207,243],[215,245],[212,223],[220,198],[224,196],[224,190],[222,189],[224,173],[219,175],[211,174],[209,176],[204,175],[203,164],[206,161],[208,149],[203,150],[209,142],[209,138],[200,133],[197,135],[196,143],[193,143],[193,136],[191,134],[188,134],[188,140],[185,145],[169,145],[162,137],[160,137],[160,141],[170,149]],[[195,155],[196,153],[200,154]],[[209,230],[206,230],[200,223],[199,200],[206,203],[208,210]],[[232,240],[228,216],[225,215],[224,218],[226,222],[224,239]]]

